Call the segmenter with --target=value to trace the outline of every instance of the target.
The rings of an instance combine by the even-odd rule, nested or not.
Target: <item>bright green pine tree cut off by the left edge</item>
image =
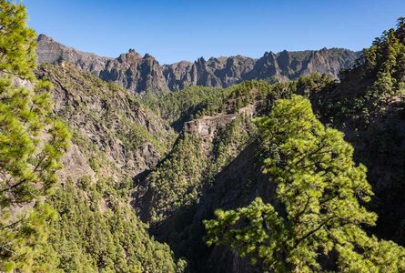
[[[0,0],[0,271],[29,270],[55,212],[43,204],[68,144],[51,85],[35,79],[35,32],[23,5]],[[31,208],[30,208],[31,207]]]

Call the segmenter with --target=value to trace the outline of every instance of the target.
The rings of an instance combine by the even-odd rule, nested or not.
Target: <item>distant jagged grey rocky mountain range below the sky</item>
[[[134,49],[117,58],[96,56],[38,36],[38,62],[72,63],[108,82],[116,82],[131,93],[153,90],[176,91],[187,86],[228,87],[249,79],[287,81],[311,73],[338,78],[339,71],[349,68],[360,52],[343,48],[266,52],[260,58],[247,56],[200,57],[194,63],[181,61],[160,65],[148,54],[140,56]]]

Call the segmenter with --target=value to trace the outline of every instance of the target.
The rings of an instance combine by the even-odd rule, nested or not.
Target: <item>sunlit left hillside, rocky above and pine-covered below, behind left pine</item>
[[[71,130],[72,145],[47,202],[58,219],[43,263],[60,272],[178,272],[170,248],[147,233],[128,206],[134,177],[157,164],[175,133],[116,84],[64,64],[43,65],[38,77],[52,84],[56,115]]]

